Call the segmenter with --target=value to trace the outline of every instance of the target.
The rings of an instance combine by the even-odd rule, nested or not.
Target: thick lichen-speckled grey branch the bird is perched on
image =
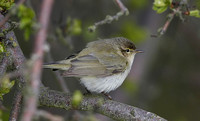
[[[73,107],[69,93],[62,93],[42,88],[39,95],[41,106],[57,107],[66,110],[94,111],[115,120],[126,121],[166,121],[156,114],[126,105],[101,96],[85,96],[78,107]]]

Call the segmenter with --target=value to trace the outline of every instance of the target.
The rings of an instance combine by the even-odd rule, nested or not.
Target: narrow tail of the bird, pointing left
[[[50,68],[53,70],[68,70],[70,67],[71,64],[67,64],[65,61],[57,61],[43,64],[43,68]]]

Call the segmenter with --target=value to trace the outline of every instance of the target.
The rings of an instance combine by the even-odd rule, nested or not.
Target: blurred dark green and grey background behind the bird
[[[53,60],[64,59],[83,49],[86,43],[99,38],[126,37],[144,53],[136,55],[129,77],[120,88],[111,92],[113,99],[156,113],[169,121],[200,120],[199,19],[186,17],[185,22],[182,22],[175,17],[166,34],[152,38],[151,35],[156,34],[164,25],[169,11],[157,14],[152,10],[152,0],[122,2],[129,9],[128,16],[99,26],[95,32],[90,33],[87,29],[89,26],[103,20],[106,15],[114,15],[119,11],[113,0],[56,0],[48,29],[48,44]],[[38,18],[41,1],[32,0],[27,3]],[[199,3],[198,0],[190,1],[191,6],[198,7]],[[34,34],[30,40],[25,41],[23,31],[15,32],[24,54],[29,58]],[[47,55],[45,62],[49,62]],[[71,92],[82,88],[78,79],[65,80]],[[51,70],[44,70],[42,81],[51,89],[61,90]],[[82,91],[84,92],[83,88]],[[11,102],[7,102],[6,105],[10,104]],[[73,113],[62,109],[43,108],[65,117],[70,117]],[[92,115],[90,112],[81,113]],[[95,117],[85,120],[112,120],[100,114],[95,114]]]

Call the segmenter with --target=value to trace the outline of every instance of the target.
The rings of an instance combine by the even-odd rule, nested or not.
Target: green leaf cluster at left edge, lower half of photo
[[[7,94],[10,92],[10,89],[13,87],[15,84],[15,81],[9,80],[7,76],[3,77],[0,81],[0,98],[3,100],[3,95]]]

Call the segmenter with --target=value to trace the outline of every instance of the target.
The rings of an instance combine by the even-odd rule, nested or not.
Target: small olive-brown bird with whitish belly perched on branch
[[[44,64],[43,67],[63,70],[61,75],[64,77],[79,77],[87,91],[109,97],[108,93],[123,83],[136,53],[140,52],[142,51],[136,50],[133,42],[126,38],[103,39],[88,43],[78,54]]]

